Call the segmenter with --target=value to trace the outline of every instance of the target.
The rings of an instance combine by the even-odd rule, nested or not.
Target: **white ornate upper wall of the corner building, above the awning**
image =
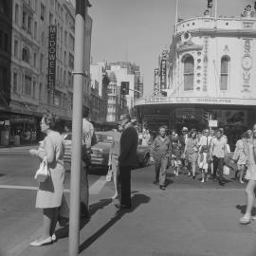
[[[188,24],[194,25],[188,29]],[[219,19],[217,29],[214,26],[211,19],[196,18],[177,27],[170,48],[168,96],[256,99],[256,18]],[[194,81],[193,89],[185,91],[183,60],[188,55],[194,59]],[[220,89],[223,56],[229,57],[227,90]]]

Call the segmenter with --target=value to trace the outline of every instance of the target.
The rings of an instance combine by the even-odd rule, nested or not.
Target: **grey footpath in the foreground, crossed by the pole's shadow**
[[[133,175],[132,210],[116,209],[109,199],[113,184],[91,196],[91,218],[81,223],[80,255],[256,255],[256,222],[238,223],[246,209],[242,189],[173,189],[170,185],[163,192],[153,184],[143,187],[137,182],[137,176],[146,172]],[[53,245],[27,246],[17,255],[67,256],[67,229],[59,229],[57,236]]]

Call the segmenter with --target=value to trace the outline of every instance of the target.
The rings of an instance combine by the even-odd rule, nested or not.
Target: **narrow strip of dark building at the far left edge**
[[[0,1],[0,143],[9,140],[12,1]]]

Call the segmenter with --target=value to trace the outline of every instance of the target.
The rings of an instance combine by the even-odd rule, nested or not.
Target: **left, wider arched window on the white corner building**
[[[189,91],[193,89],[193,70],[194,70],[194,62],[191,55],[187,55],[183,58],[184,63],[184,91]]]

